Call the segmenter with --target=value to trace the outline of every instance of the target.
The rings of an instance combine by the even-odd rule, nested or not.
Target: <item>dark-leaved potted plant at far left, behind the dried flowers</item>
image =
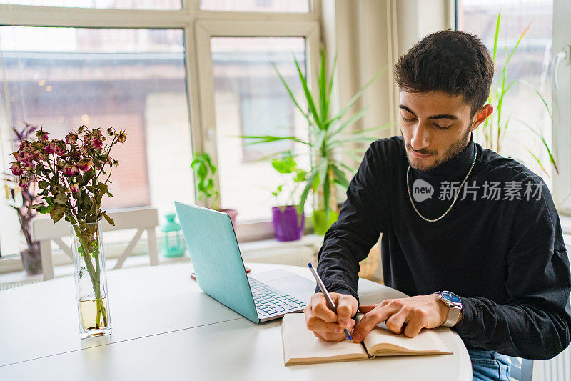
[[[31,134],[38,129],[38,126],[24,122],[21,130],[13,128],[14,145],[21,147],[22,142],[29,138]],[[32,237],[31,222],[37,216],[38,212],[29,209],[33,204],[39,202],[38,183],[37,182],[19,182],[18,176],[24,169],[16,170],[15,174],[6,174],[5,187],[6,198],[10,200],[20,224],[21,233],[24,239],[21,239],[20,257],[26,273],[30,275],[41,273],[41,252],[40,244]]]

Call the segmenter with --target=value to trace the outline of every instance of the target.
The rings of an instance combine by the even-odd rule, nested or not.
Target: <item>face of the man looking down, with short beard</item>
[[[462,95],[400,91],[399,126],[410,167],[428,171],[458,155],[491,112],[485,105],[471,117]]]

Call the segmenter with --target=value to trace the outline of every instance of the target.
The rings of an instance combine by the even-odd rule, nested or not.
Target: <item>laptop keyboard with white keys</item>
[[[250,279],[250,288],[256,304],[258,315],[269,316],[278,313],[288,312],[290,310],[299,310],[307,305],[306,302],[291,295],[285,294],[273,287],[268,286],[252,277]]]

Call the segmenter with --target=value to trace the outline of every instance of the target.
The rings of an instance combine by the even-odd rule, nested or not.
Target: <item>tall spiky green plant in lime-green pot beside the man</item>
[[[361,109],[359,112],[348,116],[350,108],[353,107],[353,104],[355,104],[363,94],[363,91],[373,83],[376,77],[370,79],[370,81],[350,99],[343,109],[340,109],[336,114],[332,114],[330,105],[337,57],[335,57],[333,61],[333,74],[329,76],[325,65],[325,50],[322,51],[320,69],[318,70],[318,87],[315,89],[315,94],[312,94],[310,91],[308,82],[295,56],[294,61],[303,88],[305,101],[308,104],[308,112],[305,112],[300,106],[300,102],[298,102],[293,95],[293,91],[285,82],[285,79],[283,79],[283,76],[275,64],[273,68],[276,70],[283,86],[285,86],[285,89],[288,91],[293,104],[295,104],[295,107],[308,122],[308,139],[295,136],[283,137],[274,135],[243,135],[242,137],[251,139],[251,142],[248,144],[263,144],[288,139],[300,144],[305,144],[309,148],[312,163],[307,179],[305,180],[305,187],[303,188],[303,192],[301,192],[298,213],[300,215],[303,214],[305,201],[308,198],[309,192],[313,192],[313,194],[317,196],[317,205],[314,205],[313,208],[313,228],[315,234],[325,234],[327,229],[338,217],[335,186],[343,190],[347,189],[349,185],[348,174],[355,172],[354,168],[340,161],[336,155],[340,153],[350,154],[350,152],[354,150],[352,144],[366,143],[378,139],[377,137],[370,137],[367,134],[378,129],[387,128],[388,125],[364,129],[360,132],[351,132],[349,136],[344,134],[348,132],[349,127],[353,126],[353,124],[365,114],[365,109]]]

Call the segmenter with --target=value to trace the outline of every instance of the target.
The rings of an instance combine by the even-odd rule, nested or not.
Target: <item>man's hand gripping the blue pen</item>
[[[337,306],[337,313],[329,309],[325,296],[318,292],[303,309],[305,325],[321,340],[342,341],[347,338],[343,330],[347,328],[351,332],[355,326],[355,320],[351,317],[357,313],[358,302],[352,295],[337,292],[330,292],[329,295]]]

